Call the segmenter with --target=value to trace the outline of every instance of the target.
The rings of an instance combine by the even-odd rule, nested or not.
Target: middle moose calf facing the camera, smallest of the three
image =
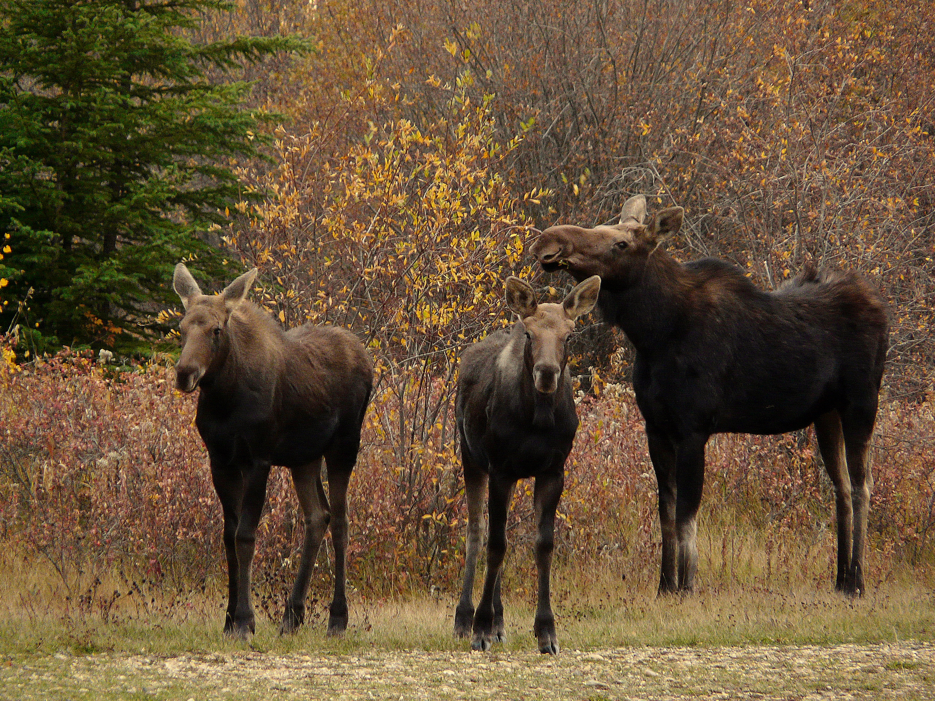
[[[468,548],[454,635],[471,635],[474,650],[504,639],[500,574],[507,550],[507,509],[518,479],[535,478],[539,534],[539,605],[533,632],[539,651],[558,652],[549,596],[555,508],[565,486],[565,461],[578,431],[568,373],[568,336],[574,320],[594,308],[600,279],[586,279],[562,304],[536,304],[523,280],[507,279],[507,306],[520,321],[470,346],[461,356],[455,402],[465,491]],[[474,610],[471,594],[481,544],[482,499],[489,481],[487,572]]]

